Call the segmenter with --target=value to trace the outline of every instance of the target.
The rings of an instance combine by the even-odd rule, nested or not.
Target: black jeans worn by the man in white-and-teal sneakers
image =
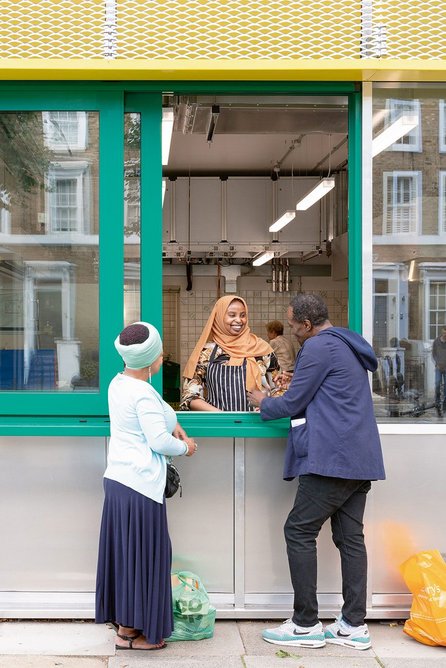
[[[295,624],[313,626],[318,621],[316,538],[328,518],[333,542],[341,555],[342,617],[352,626],[364,624],[367,552],[363,518],[370,488],[368,480],[300,476],[294,506],[284,527]]]

